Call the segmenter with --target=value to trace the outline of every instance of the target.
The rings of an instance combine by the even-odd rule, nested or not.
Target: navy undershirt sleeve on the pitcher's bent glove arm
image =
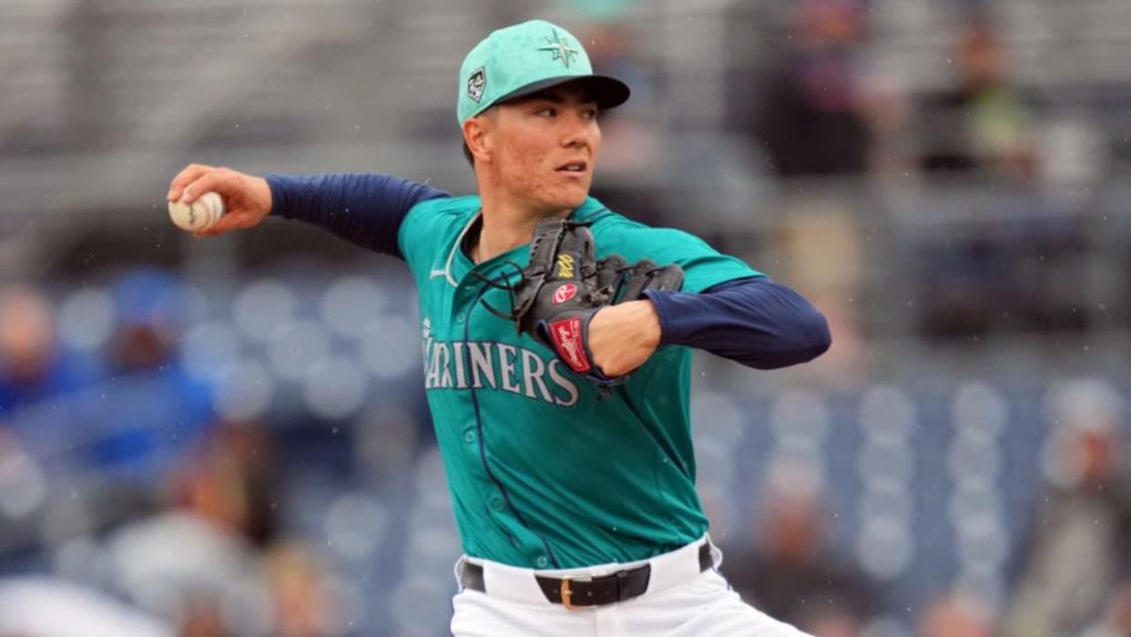
[[[832,342],[817,308],[766,277],[727,281],[701,294],[646,294],[659,316],[661,345],[687,345],[756,369],[778,369],[811,361]]]

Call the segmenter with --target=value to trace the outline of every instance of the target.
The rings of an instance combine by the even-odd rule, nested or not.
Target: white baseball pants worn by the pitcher
[[[715,567],[699,571],[700,540],[657,556],[648,589],[624,602],[569,610],[546,600],[534,575],[595,577],[641,566],[603,565],[568,570],[515,568],[463,557],[483,566],[486,593],[463,589],[452,599],[455,637],[809,637],[744,603],[716,570],[722,552],[713,548]],[[770,575],[772,577],[772,575]]]

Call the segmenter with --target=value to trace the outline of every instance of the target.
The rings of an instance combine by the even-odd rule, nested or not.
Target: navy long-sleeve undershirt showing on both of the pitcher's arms
[[[369,250],[403,258],[397,232],[416,204],[442,190],[383,174],[268,175],[271,214],[307,222]],[[701,294],[648,292],[661,345],[687,345],[756,369],[810,361],[831,342],[824,317],[766,277],[728,281]]]

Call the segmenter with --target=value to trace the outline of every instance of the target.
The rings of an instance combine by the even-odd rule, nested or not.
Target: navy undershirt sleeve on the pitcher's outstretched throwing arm
[[[424,183],[388,174],[267,175],[271,215],[303,221],[342,239],[399,259],[397,232],[421,201],[450,197]]]

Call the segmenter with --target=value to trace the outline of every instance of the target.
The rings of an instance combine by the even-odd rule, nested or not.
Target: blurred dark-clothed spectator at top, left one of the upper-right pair
[[[794,5],[789,42],[760,85],[756,109],[732,100],[732,120],[762,141],[778,174],[863,173],[871,132],[856,55],[866,12],[860,0]]]

